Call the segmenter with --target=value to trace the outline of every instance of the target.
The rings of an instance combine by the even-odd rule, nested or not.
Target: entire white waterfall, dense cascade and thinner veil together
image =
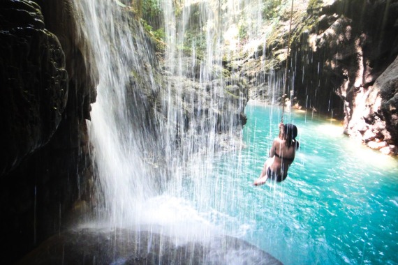
[[[128,11],[115,1],[75,1],[82,18],[81,33],[89,41],[93,55],[92,68],[96,68],[99,77],[98,96],[89,122],[97,189],[103,196],[97,211],[98,219],[110,227],[149,225],[151,229],[161,227],[169,234],[198,239],[212,234],[219,229],[216,225],[222,226],[230,218],[220,210],[229,198],[223,195],[223,189],[232,190],[233,183],[221,181],[219,174],[225,173],[215,172],[213,163],[223,149],[231,148],[230,139],[239,139],[240,135],[236,135],[235,128],[238,118],[230,114],[237,106],[219,100],[228,95],[218,82],[224,81],[222,58],[230,56],[237,43],[233,40],[238,38],[240,8],[248,3],[226,1],[220,5],[220,1],[203,1],[198,5],[198,24],[202,27],[199,39],[204,43],[190,43],[193,52],[191,68],[187,69],[181,47],[186,45],[184,36],[192,26],[193,9],[186,1],[182,14],[176,16],[172,2],[161,1],[166,36],[164,66],[171,75],[165,87],[159,87],[151,73],[154,55],[149,54],[151,49],[145,41],[139,41],[145,40],[142,27],[131,32]],[[251,3],[260,5],[260,1]],[[229,50],[224,49],[224,32],[233,33]],[[133,34],[140,37],[133,38]],[[195,53],[198,45],[205,45],[200,63]],[[142,66],[149,67],[143,70]],[[131,87],[138,89],[131,86],[132,76],[145,78],[152,91],[161,95],[156,130],[146,127],[142,112],[149,103],[138,97],[140,92],[131,91]],[[173,79],[192,76],[199,81],[193,84],[189,78]],[[243,109],[242,102],[237,104]],[[239,143],[238,140],[233,146],[235,151],[239,151]],[[154,154],[161,154],[164,163],[157,161]],[[212,178],[216,181],[210,181]],[[215,198],[219,200],[214,202]]]

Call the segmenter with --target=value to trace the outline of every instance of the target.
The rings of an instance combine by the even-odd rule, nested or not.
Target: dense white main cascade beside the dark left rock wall
[[[132,225],[138,218],[140,202],[154,195],[153,160],[155,133],[142,109],[149,103],[132,82],[132,75],[143,79],[156,91],[151,67],[152,54],[141,27],[131,32],[126,12],[115,1],[75,1],[82,19],[82,35],[89,42],[94,66],[99,76],[98,96],[92,105],[89,134],[94,146],[98,191],[103,204],[98,205],[100,220],[111,227]],[[137,38],[138,39],[138,38]]]

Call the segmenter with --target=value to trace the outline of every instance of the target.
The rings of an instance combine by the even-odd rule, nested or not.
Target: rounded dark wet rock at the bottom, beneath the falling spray
[[[128,229],[74,229],[52,236],[17,262],[45,264],[281,264],[254,245],[230,236],[178,243]]]

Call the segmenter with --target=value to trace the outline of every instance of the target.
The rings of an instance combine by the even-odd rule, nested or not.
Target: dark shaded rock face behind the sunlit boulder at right
[[[386,1],[311,2],[310,19],[306,18],[313,24],[302,29],[301,43],[296,39],[293,45],[299,58],[307,59],[294,64],[307,72],[297,73],[297,93],[302,105],[310,101],[320,112],[330,112],[328,101],[344,106],[348,123],[356,93],[374,84],[398,53],[398,6]],[[336,95],[344,105],[339,105]]]

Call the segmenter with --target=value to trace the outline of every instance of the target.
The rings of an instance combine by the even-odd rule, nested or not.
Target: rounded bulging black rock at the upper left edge
[[[2,175],[54,134],[66,107],[68,73],[36,3],[3,1],[0,28]]]

